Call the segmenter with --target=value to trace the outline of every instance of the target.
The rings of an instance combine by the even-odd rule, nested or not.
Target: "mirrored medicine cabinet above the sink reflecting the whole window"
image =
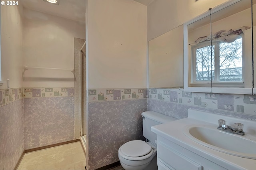
[[[251,12],[251,0],[231,0],[187,24],[190,91],[252,94]]]

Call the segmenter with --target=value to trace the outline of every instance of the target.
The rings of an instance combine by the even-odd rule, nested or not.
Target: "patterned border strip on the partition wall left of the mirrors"
[[[88,89],[88,102],[148,98],[148,89]]]

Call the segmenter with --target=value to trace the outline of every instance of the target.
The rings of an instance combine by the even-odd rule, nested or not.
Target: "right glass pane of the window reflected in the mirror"
[[[220,43],[220,81],[242,81],[242,38]]]

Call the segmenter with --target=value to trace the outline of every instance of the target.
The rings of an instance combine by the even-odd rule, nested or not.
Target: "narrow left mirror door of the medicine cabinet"
[[[188,25],[188,87],[211,87],[210,41],[197,42],[211,34],[211,18],[206,16]],[[195,55],[197,54],[197,55]]]

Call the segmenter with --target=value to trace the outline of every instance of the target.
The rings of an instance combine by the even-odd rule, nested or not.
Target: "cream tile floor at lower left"
[[[84,170],[85,164],[82,145],[74,142],[26,153],[17,170]]]

